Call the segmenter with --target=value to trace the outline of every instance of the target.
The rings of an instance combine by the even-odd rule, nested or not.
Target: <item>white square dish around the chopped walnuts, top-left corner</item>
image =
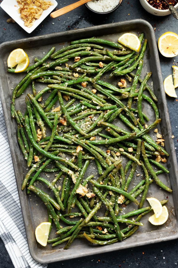
[[[56,8],[57,2],[55,0],[50,0],[50,2],[53,5],[50,6],[48,9],[44,10],[39,19],[35,20],[34,24],[30,28],[24,26],[24,21],[20,18],[20,14],[18,13],[18,4],[16,0],[3,0],[0,6],[27,33],[31,33],[53,11],[53,9]]]

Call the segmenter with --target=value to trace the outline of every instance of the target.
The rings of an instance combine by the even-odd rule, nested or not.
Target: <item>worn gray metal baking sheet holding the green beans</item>
[[[73,244],[68,250],[63,250],[64,244],[61,244],[55,248],[52,248],[50,244],[46,247],[42,247],[37,244],[34,230],[36,226],[42,222],[47,221],[46,207],[44,204],[34,195],[29,196],[25,191],[21,191],[21,182],[24,174],[27,172],[26,162],[23,159],[22,153],[19,149],[16,139],[16,122],[11,120],[10,117],[10,99],[12,94],[12,88],[20,81],[23,74],[10,74],[6,72],[7,57],[9,53],[16,48],[22,48],[29,55],[30,63],[33,63],[34,57],[39,58],[43,56],[43,52],[47,52],[50,47],[55,46],[56,49],[68,45],[70,41],[75,39],[87,38],[92,36],[98,36],[108,40],[117,42],[118,36],[124,32],[141,33],[144,32],[145,38],[148,39],[147,50],[144,57],[144,66],[142,69],[143,76],[152,70],[153,75],[151,81],[153,81],[153,88],[156,96],[158,97],[158,108],[160,117],[162,118],[159,126],[160,132],[165,139],[165,149],[169,152],[165,166],[169,169],[169,174],[160,174],[159,177],[169,187],[174,190],[172,194],[160,190],[159,187],[152,183],[149,188],[148,196],[153,196],[159,200],[166,199],[168,196],[169,202],[167,208],[169,211],[168,221],[162,226],[153,226],[148,222],[148,216],[143,217],[143,227],[139,227],[137,232],[122,241],[121,243],[96,246],[90,245],[85,239],[74,240]],[[31,256],[41,263],[57,262],[60,260],[78,258],[86,255],[98,254],[103,252],[109,252],[113,250],[121,250],[129,247],[136,247],[145,244],[152,244],[160,241],[166,241],[175,239],[178,237],[178,222],[177,222],[177,210],[178,210],[178,198],[177,198],[177,161],[175,155],[175,149],[173,140],[171,139],[171,125],[169,121],[169,114],[167,109],[167,103],[165,93],[163,89],[163,80],[161,75],[161,68],[159,62],[159,56],[157,51],[157,45],[155,40],[155,34],[152,26],[144,20],[132,20],[124,21],[120,23],[112,23],[100,26],[89,27],[85,29],[78,29],[75,31],[66,31],[61,33],[54,33],[49,35],[37,36],[33,38],[26,38],[22,40],[16,40],[11,42],[5,42],[1,44],[1,72],[0,72],[0,84],[1,84],[1,102],[3,106],[3,112],[6,122],[7,135],[9,138],[9,145],[11,150],[11,156],[14,166],[15,178],[17,181],[17,188],[19,193],[19,199],[21,203],[21,209],[26,229],[27,241]],[[42,88],[44,85],[38,85]],[[37,88],[38,89],[38,88]],[[28,89],[26,90],[26,92]],[[25,94],[25,92],[24,92]],[[16,109],[22,111],[25,110],[24,95],[16,100]],[[150,122],[154,121],[153,111],[150,106],[145,104],[143,107],[144,112],[149,116]],[[116,122],[117,124],[118,122]],[[149,124],[148,123],[148,124]],[[155,138],[155,136],[154,136]],[[123,160],[124,161],[124,160]],[[52,175],[50,174],[52,177]],[[50,179],[50,178],[49,178]],[[139,178],[138,178],[139,179]],[[140,178],[141,179],[141,178]],[[132,183],[135,183],[135,179]],[[40,186],[41,187],[41,186]],[[148,206],[145,201],[145,206]],[[129,209],[136,209],[136,206]],[[62,222],[60,222],[61,225]],[[53,228],[54,229],[54,228]],[[54,233],[54,230],[53,230]]]

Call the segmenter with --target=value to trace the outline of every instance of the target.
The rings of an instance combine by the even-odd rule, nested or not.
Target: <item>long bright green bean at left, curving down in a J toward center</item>
[[[29,126],[29,118],[28,116],[25,116],[25,128],[26,128],[26,132],[27,132],[27,135],[29,137],[29,140],[31,142],[31,144],[34,146],[34,148],[39,151],[41,154],[45,155],[46,157],[50,158],[50,159],[54,159],[54,160],[57,160],[57,161],[60,161],[60,162],[65,162],[66,164],[68,164],[69,166],[71,166],[72,168],[78,170],[77,166],[74,165],[73,163],[67,161],[65,158],[62,158],[62,157],[58,157],[56,155],[53,155],[53,154],[50,154],[49,152],[46,152],[44,151],[36,142],[35,140],[33,139],[33,136],[31,134],[31,131],[30,131],[30,126]]]

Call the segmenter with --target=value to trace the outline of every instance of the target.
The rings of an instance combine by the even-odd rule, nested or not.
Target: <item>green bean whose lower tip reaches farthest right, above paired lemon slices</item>
[[[169,187],[167,187],[164,183],[162,183],[160,181],[160,179],[156,176],[156,174],[155,174],[154,170],[152,169],[152,167],[148,161],[148,158],[145,154],[145,146],[144,146],[143,142],[141,143],[141,153],[142,153],[145,165],[146,165],[147,169],[149,170],[149,172],[151,173],[152,177],[154,178],[156,184],[159,185],[159,187],[163,188],[164,190],[166,190],[168,192],[172,192],[172,190]]]

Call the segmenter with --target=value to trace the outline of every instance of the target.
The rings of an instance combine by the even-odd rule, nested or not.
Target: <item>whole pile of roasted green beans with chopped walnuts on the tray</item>
[[[157,158],[169,154],[149,135],[161,119],[149,87],[152,73],[142,68],[147,39],[143,33],[139,39],[140,54],[99,38],[73,41],[57,51],[52,47],[42,59],[35,58],[13,90],[11,117],[17,122],[17,140],[29,167],[21,189],[33,192],[46,206],[48,221],[56,226],[57,236],[48,240],[52,247],[67,241],[64,249],[68,249],[75,238],[84,237],[99,245],[124,240],[143,226],[141,217],[152,211],[143,207],[149,185],[155,181],[172,192],[158,178],[169,171]],[[14,69],[7,71],[14,73]],[[114,76],[124,87],[116,86]],[[41,83],[47,87],[40,91]],[[24,114],[15,109],[15,100],[22,94]],[[155,112],[153,123],[143,113],[143,102]],[[116,119],[124,126],[116,126]],[[133,187],[139,167],[143,178],[138,177]],[[46,172],[50,176],[43,178]],[[123,214],[122,207],[130,202],[138,209]],[[98,217],[101,206],[106,211]]]

